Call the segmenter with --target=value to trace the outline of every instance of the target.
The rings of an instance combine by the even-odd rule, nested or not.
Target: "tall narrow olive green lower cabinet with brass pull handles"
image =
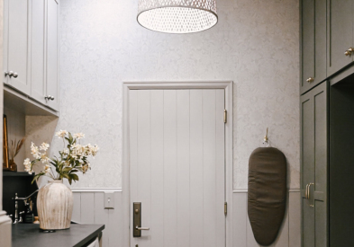
[[[301,96],[302,246],[328,246],[327,82]]]

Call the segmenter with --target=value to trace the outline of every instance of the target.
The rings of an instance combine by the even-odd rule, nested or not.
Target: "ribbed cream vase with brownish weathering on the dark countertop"
[[[37,210],[40,228],[62,230],[70,228],[73,193],[63,181],[48,181],[38,192]]]

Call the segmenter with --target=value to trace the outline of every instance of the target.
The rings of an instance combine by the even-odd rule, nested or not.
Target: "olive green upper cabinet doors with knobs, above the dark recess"
[[[354,2],[301,1],[301,94],[354,72]]]

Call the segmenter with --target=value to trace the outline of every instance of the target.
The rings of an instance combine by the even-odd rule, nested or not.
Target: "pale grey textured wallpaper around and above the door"
[[[219,23],[187,35],[141,28],[137,2],[61,0],[57,128],[101,147],[74,187],[122,186],[124,81],[232,80],[234,188],[247,188],[250,153],[267,127],[299,188],[298,1],[218,0]]]

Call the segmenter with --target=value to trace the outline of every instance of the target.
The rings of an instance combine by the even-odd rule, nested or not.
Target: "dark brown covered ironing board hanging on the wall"
[[[286,212],[286,156],[277,148],[259,147],[250,154],[248,211],[256,241],[273,243]]]

